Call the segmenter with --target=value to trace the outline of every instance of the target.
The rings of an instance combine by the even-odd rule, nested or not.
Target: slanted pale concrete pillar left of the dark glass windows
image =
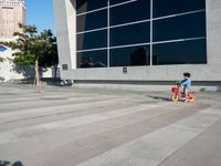
[[[76,69],[76,0],[53,1],[60,64]],[[61,70],[62,77],[66,70]]]

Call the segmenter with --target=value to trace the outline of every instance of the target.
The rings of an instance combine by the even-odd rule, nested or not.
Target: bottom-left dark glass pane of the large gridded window
[[[77,68],[107,66],[107,50],[77,53]]]

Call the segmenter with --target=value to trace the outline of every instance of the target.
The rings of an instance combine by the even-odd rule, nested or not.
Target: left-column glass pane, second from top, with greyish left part
[[[78,15],[77,32],[107,27],[107,10]]]

